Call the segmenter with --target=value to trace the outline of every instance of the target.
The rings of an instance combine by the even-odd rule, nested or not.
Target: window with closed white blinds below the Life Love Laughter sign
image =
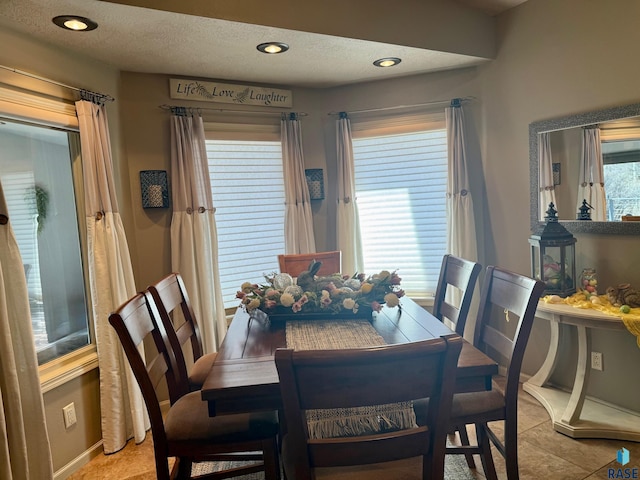
[[[235,309],[240,286],[264,283],[265,274],[279,271],[278,254],[284,252],[280,134],[275,126],[266,132],[251,126],[239,126],[240,132],[206,128],[222,296],[225,308]]]

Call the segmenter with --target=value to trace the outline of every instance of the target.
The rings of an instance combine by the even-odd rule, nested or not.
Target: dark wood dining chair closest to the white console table
[[[472,455],[479,454],[485,476],[496,480],[490,442],[505,458],[507,478],[518,479],[518,388],[522,359],[531,333],[538,300],[545,288],[543,282],[498,267],[486,269],[474,345],[498,362],[506,362],[504,391],[459,393],[453,396],[450,425],[464,428],[475,425],[477,445],[447,447],[447,454],[465,454],[474,465]],[[414,403],[418,424],[426,422],[428,400]],[[502,421],[501,440],[489,422]],[[466,443],[466,444],[465,444]]]

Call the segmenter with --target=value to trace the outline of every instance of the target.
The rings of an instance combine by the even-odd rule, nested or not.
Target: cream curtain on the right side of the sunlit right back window
[[[476,223],[473,213],[473,199],[469,190],[467,172],[467,147],[465,141],[464,112],[460,101],[452,100],[445,109],[447,125],[447,251],[457,257],[478,261]],[[473,341],[475,312],[478,295],[473,296],[465,338]],[[454,300],[460,302],[459,298]]]

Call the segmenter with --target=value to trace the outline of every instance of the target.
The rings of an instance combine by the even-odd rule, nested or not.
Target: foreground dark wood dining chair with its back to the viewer
[[[447,419],[461,347],[462,338],[451,334],[368,348],[276,350],[287,425],[282,447],[286,478],[310,480],[322,467],[381,464],[376,468],[384,468],[384,462],[422,457],[421,476],[417,476],[442,479]],[[431,397],[432,402],[428,421],[420,427],[412,421],[413,428],[315,438],[318,435],[312,435],[307,423],[309,410],[386,405],[423,396]],[[410,403],[408,408],[411,411]],[[376,424],[379,421],[380,417],[374,419]],[[364,470],[362,478],[368,478]]]

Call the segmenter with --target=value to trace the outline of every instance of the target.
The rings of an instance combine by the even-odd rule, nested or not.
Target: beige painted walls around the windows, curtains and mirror
[[[635,103],[640,98],[636,82],[640,64],[630,54],[640,44],[635,21],[640,3],[617,0],[616,4],[624,6],[624,15],[610,2],[529,0],[498,18],[498,54],[486,66],[329,90],[294,89],[295,110],[309,114],[303,118],[306,166],[325,168],[328,180],[326,199],[314,204],[318,249],[335,245],[335,118],[327,114],[471,95],[476,100],[467,104],[466,112],[481,261],[528,274],[529,123]],[[144,288],[170,270],[170,212],[143,210],[138,181],[140,170],[169,170],[169,114],[158,108],[171,103],[169,77],[125,72],[119,79],[107,66],[52,51],[7,31],[0,31],[0,44],[2,65],[117,98],[109,105],[114,157],[123,185],[121,206],[136,285]],[[635,237],[578,236],[578,266],[595,266],[603,286],[623,281],[640,285],[635,272],[639,255]],[[565,357],[556,378],[565,384],[575,368],[570,340],[569,336],[563,343]],[[547,341],[548,327],[540,322],[527,352],[528,373],[541,363]],[[596,331],[593,346],[604,353],[605,371],[592,373],[590,393],[637,408],[634,399],[640,393],[640,373],[629,368],[640,362],[635,339],[626,332]],[[93,398],[97,402],[96,389],[95,377],[88,376],[45,396],[50,431],[55,435],[56,469],[99,437],[95,405],[78,412],[79,422],[84,423],[73,438],[60,431],[58,410],[69,401],[86,405],[83,399]]]

